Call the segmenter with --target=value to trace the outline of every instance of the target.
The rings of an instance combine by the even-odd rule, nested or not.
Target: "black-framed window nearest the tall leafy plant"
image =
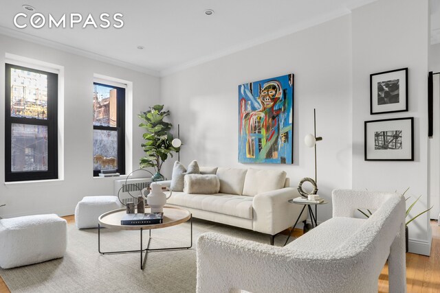
[[[94,82],[94,176],[125,174],[125,89]]]

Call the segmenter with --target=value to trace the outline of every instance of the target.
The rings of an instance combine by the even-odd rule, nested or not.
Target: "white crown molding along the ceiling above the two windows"
[[[18,38],[20,40],[26,40],[28,42],[36,43],[38,45],[44,45],[47,47],[51,47],[53,49],[58,49],[61,51],[65,51],[67,53],[75,54],[78,56],[83,56],[83,57],[90,58],[93,60],[109,63],[111,65],[124,67],[126,69],[131,69],[133,71],[146,73],[148,75],[153,75],[155,77],[159,77],[159,71],[155,71],[153,69],[148,69],[146,67],[134,65],[129,62],[124,62],[121,60],[109,58],[109,57],[106,57],[106,56],[103,56],[100,54],[96,54],[91,51],[79,49],[79,48],[76,48],[73,46],[64,45],[62,43],[54,42],[53,40],[47,40],[46,38],[40,38],[40,37],[34,36],[32,34],[26,34],[25,32],[19,32],[17,30],[12,30],[8,27],[0,26],[0,34],[3,34],[4,36],[10,36],[11,38]]]

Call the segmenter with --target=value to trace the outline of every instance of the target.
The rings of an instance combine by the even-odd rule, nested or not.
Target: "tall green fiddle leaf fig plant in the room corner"
[[[164,105],[155,105],[149,111],[137,115],[143,120],[139,126],[146,131],[143,134],[145,142],[141,144],[145,156],[140,159],[140,167],[153,167],[156,172],[153,177],[157,177],[156,180],[164,180],[164,176],[160,174],[162,164],[168,156],[173,157],[173,152],[179,151],[179,148],[174,148],[171,144],[173,134],[170,134],[170,130],[173,124],[164,121],[169,115],[170,111],[164,111]]]

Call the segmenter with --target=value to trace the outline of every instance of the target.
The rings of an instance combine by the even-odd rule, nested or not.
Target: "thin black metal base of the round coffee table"
[[[140,228],[140,250],[122,250],[122,251],[101,251],[101,226],[98,224],[98,252],[101,255],[120,255],[123,253],[140,253],[140,269],[144,270],[145,263],[146,263],[146,257],[149,252],[152,251],[165,251],[165,250],[183,250],[183,249],[190,249],[192,248],[192,215],[190,218],[190,226],[191,226],[191,242],[190,246],[182,246],[182,247],[167,247],[167,248],[150,248],[150,240],[151,240],[151,230],[148,229],[148,242],[146,244],[146,248],[143,246],[143,231],[147,229]],[[145,253],[145,255],[144,255]]]

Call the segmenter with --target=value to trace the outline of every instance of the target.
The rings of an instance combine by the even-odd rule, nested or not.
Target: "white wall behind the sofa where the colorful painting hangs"
[[[294,165],[238,162],[238,85],[294,73]],[[317,113],[318,187],[331,201],[331,190],[351,187],[351,44],[350,16],[168,75],[161,80],[161,102],[180,124],[181,161],[199,165],[283,169],[296,187],[314,177],[314,150],[304,137],[313,133]],[[171,174],[174,160],[164,166]],[[331,217],[331,204],[319,207],[320,221]]]

